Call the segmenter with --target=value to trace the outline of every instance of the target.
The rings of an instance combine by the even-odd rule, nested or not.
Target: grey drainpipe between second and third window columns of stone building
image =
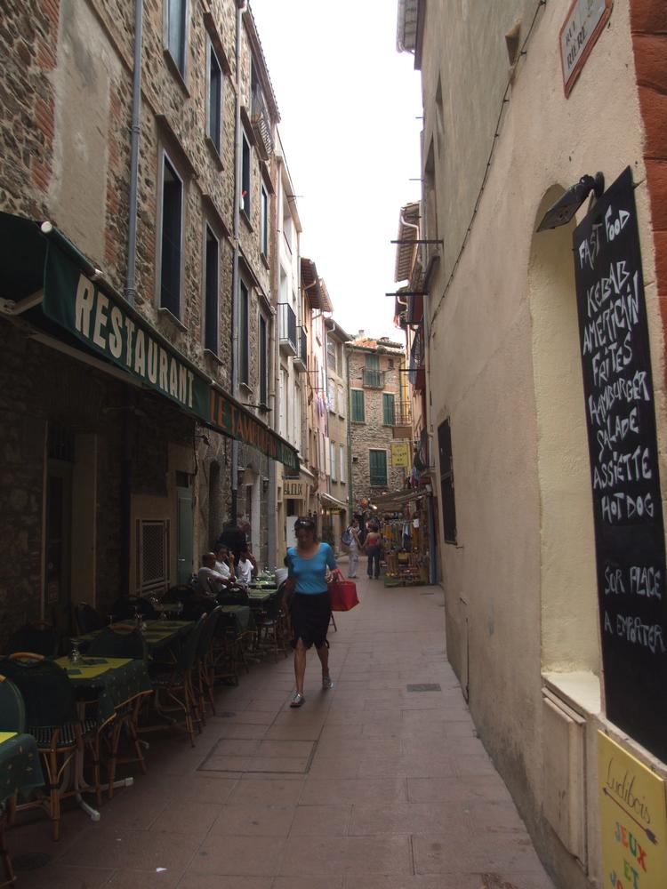
[[[241,33],[245,0],[237,0],[237,36],[236,36],[236,95],[234,98],[234,222],[232,240],[234,242],[234,263],[231,273],[231,394],[238,398],[238,316],[239,316],[239,277],[238,237],[241,226],[241,175],[243,137],[241,131]],[[236,525],[238,518],[238,442],[234,438],[231,443],[231,520]]]

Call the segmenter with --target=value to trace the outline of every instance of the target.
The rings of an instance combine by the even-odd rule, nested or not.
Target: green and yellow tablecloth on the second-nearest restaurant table
[[[64,657],[56,663],[67,670],[68,679],[75,686],[79,699],[97,701],[100,723],[105,722],[120,704],[135,694],[152,689],[146,661],[84,657],[73,664]]]

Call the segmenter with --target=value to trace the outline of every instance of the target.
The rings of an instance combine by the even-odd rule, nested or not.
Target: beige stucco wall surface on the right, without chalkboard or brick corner
[[[580,371],[572,361],[569,371],[560,366],[569,376],[567,396],[559,404],[558,350],[550,363],[540,341],[546,338],[546,345],[552,346],[550,340],[571,337],[575,328],[567,327],[558,312],[549,317],[543,306],[542,314],[535,315],[530,276],[534,237],[552,236],[534,236],[538,211],[550,190],[567,188],[584,172],[598,170],[611,184],[631,165],[638,186],[661,454],[663,336],[627,0],[614,4],[611,20],[568,100],[559,60],[566,4],[542,8],[527,54],[518,63],[477,216],[446,290],[494,141],[509,75],[504,35],[522,15],[526,27],[536,7],[528,2],[484,4],[483,9],[465,2],[444,8],[428,5],[422,65],[424,146],[428,150],[437,131],[441,71],[446,151],[437,164],[436,180],[438,219],[447,220],[439,230],[445,240],[444,259],[430,286],[430,423],[437,432],[446,417],[452,421],[458,546],[441,547],[449,656],[460,675],[470,663],[470,708],[480,735],[517,798],[542,856],[559,875],[559,885],[569,889],[588,885],[588,878],[542,816],[543,800],[552,791],[542,774],[542,751],[549,739],[542,737],[541,670],[551,658],[559,661],[560,669],[571,669],[563,660],[568,648],[578,649],[580,669],[591,675],[597,669],[597,639],[592,635],[597,629],[597,589],[590,498],[580,496],[580,485],[568,493],[571,480],[564,484],[559,477],[568,469],[567,453],[551,459],[548,450],[553,421],[567,421],[570,415],[571,425],[580,432],[570,435],[568,430],[567,446],[574,448],[575,476],[583,484],[588,454],[582,404],[576,403],[571,380],[571,374]],[[437,140],[436,135],[434,144]],[[551,284],[546,280],[541,286],[549,289]],[[553,286],[562,295],[560,284]],[[572,354],[570,348],[569,359]],[[553,416],[545,416],[548,411]],[[663,459],[661,471],[664,474]],[[442,527],[440,534],[442,540]],[[575,554],[569,545],[573,541]],[[572,570],[573,559],[582,568],[578,573]],[[577,599],[572,596],[573,582]],[[550,614],[543,622],[549,595],[555,598],[547,603]],[[573,603],[580,607],[581,597],[583,611],[574,616],[578,620],[583,615],[584,628],[575,626],[568,611]],[[588,642],[582,638],[587,632]],[[591,716],[586,784],[591,879],[599,878],[594,728]]]

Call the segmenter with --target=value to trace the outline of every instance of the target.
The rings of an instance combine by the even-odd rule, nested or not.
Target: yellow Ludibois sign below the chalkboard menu
[[[667,886],[664,781],[598,733],[602,885],[607,889]]]

